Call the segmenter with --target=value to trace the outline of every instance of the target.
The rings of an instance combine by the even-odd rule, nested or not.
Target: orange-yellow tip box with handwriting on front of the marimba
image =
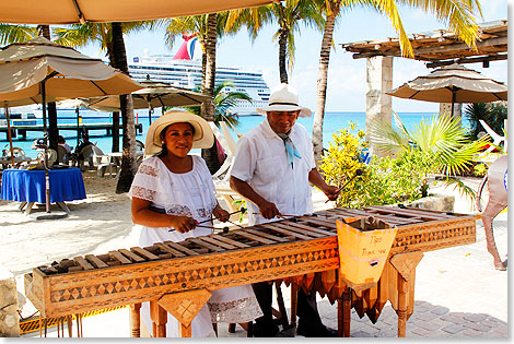
[[[337,221],[340,276],[353,289],[371,287],[382,275],[397,228],[375,217],[346,222]]]

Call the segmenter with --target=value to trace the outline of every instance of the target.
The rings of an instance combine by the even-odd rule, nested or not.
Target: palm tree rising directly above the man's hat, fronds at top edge
[[[294,34],[300,31],[300,23],[307,26],[323,27],[323,16],[315,1],[311,0],[285,0],[273,2],[259,8],[230,11],[226,22],[226,29],[234,29],[246,26],[255,38],[257,32],[264,24],[274,22],[279,24],[279,29],[273,35],[273,39],[279,43],[279,72],[280,82],[288,83],[288,68],[292,70],[294,66]]]

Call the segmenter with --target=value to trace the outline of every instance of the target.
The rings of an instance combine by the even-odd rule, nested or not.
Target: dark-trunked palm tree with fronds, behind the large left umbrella
[[[59,43],[70,46],[85,46],[92,40],[101,43],[102,48],[106,49],[109,57],[112,67],[119,69],[121,72],[129,74],[127,54],[125,50],[124,32],[139,31],[152,27],[154,22],[129,22],[129,23],[85,23],[74,24],[68,29],[56,31],[59,35]],[[119,96],[121,118],[122,118],[122,157],[121,168],[119,173],[118,183],[116,185],[116,193],[128,192],[132,185],[133,176],[136,174],[136,129],[133,118],[132,97],[129,95]],[[114,115],[114,114],[113,114]],[[113,116],[114,127],[119,128],[119,117]],[[117,126],[116,126],[117,124]],[[113,143],[115,140],[113,132]],[[115,146],[113,146],[115,149]]]

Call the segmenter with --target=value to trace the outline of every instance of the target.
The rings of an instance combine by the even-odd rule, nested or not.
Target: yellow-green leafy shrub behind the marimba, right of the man
[[[357,124],[350,123],[350,130]],[[357,135],[349,129],[339,130],[322,158],[322,173],[328,183],[344,186],[355,170],[362,176],[352,179],[341,190],[337,206],[363,207],[370,205],[411,202],[427,195],[428,177],[433,171],[435,154],[420,150],[405,150],[396,158],[373,157],[369,165],[359,162],[362,150],[367,147],[365,133]]]

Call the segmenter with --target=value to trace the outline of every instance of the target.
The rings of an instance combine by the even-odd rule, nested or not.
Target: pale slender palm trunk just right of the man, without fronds
[[[319,52],[319,68],[316,83],[316,109],[313,123],[313,149],[316,165],[319,164],[323,151],[323,118],[325,116],[325,104],[327,100],[328,62],[332,44],[336,14],[327,16],[325,31],[323,33],[322,50]]]

